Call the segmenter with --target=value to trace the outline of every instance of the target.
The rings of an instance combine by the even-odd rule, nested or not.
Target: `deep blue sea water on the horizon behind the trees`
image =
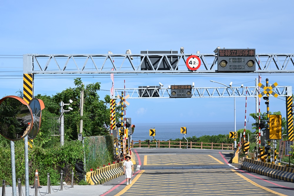
[[[169,140],[169,139],[182,139],[184,135],[181,133],[181,127],[186,127],[187,134],[185,137],[197,138],[203,135],[219,135],[229,134],[234,131],[234,122],[219,122],[219,123],[137,123],[135,130],[132,134],[132,140],[152,140],[153,137],[149,136],[149,129],[155,128],[156,140]],[[236,123],[236,130],[244,129],[244,122]],[[129,128],[131,129],[131,128]],[[246,130],[251,130],[251,123],[246,123]]]

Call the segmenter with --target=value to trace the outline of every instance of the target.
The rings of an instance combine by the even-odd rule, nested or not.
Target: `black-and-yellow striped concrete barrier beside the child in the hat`
[[[96,171],[87,172],[86,180],[91,185],[97,185],[101,182],[109,181],[123,175],[123,162],[108,165]]]

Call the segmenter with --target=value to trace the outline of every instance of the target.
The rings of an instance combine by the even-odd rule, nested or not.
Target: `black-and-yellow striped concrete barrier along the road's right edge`
[[[245,158],[241,169],[288,182],[294,181],[294,168],[291,167]]]

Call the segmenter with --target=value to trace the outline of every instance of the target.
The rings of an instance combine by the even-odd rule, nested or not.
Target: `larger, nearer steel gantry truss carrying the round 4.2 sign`
[[[196,55],[201,59],[198,70],[186,67],[186,59]],[[151,57],[159,63],[166,62],[169,70],[160,70],[152,64]],[[170,59],[178,59],[172,66]],[[294,73],[294,54],[257,54],[255,73]],[[172,61],[172,60],[171,60]],[[148,70],[141,70],[147,62]],[[218,73],[217,54],[25,54],[24,74],[51,73]],[[114,70],[111,71],[111,68]]]

